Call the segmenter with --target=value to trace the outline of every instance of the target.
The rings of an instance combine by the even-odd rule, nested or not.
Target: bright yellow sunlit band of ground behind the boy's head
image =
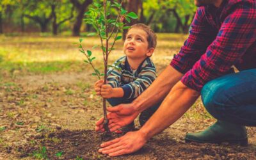
[[[154,58],[164,56],[170,59],[179,51],[186,35],[159,33],[157,34],[157,49]],[[0,55],[4,61],[11,62],[45,62],[45,61],[79,61],[84,58],[78,51],[77,37],[40,37],[40,36],[0,36]],[[101,60],[102,53],[99,49],[92,49],[93,45],[100,45],[97,37],[84,38],[84,50],[93,51],[93,56]],[[116,43],[116,50],[111,54],[111,59],[123,55],[123,42]]]

